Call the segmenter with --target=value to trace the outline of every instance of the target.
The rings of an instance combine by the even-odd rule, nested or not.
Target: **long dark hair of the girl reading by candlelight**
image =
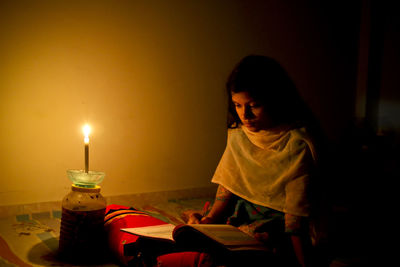
[[[248,92],[264,106],[274,124],[305,125],[311,112],[282,66],[272,58],[249,55],[233,69],[226,83],[228,128],[241,121],[232,102],[232,93]],[[299,125],[300,124],[300,125]]]

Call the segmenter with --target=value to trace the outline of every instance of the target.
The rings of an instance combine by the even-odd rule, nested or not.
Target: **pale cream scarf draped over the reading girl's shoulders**
[[[309,215],[307,190],[314,148],[304,128],[230,129],[212,182],[252,203]]]

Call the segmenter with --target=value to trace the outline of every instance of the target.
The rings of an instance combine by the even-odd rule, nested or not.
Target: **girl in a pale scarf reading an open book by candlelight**
[[[309,217],[315,120],[273,59],[250,55],[230,74],[228,140],[212,178],[207,215],[188,223],[228,223],[275,252],[282,266],[310,264]]]

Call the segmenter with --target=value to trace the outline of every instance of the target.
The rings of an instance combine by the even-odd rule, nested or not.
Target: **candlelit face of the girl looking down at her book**
[[[242,124],[252,132],[266,130],[273,126],[265,107],[254,100],[248,92],[232,92],[232,102],[235,105]]]

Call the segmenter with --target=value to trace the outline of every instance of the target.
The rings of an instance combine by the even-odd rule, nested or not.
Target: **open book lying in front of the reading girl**
[[[121,231],[139,237],[171,242],[186,248],[219,246],[229,251],[269,251],[254,237],[227,224],[161,224],[122,228]]]

